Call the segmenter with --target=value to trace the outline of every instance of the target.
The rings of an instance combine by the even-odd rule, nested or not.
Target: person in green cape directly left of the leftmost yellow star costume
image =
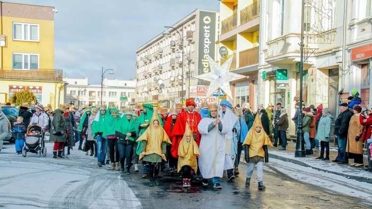
[[[120,170],[124,171],[124,161],[126,168],[126,175],[130,175],[130,166],[132,161],[132,150],[133,144],[137,139],[138,124],[132,118],[132,113],[130,110],[124,111],[124,117],[120,119],[120,122],[117,124],[117,131],[115,135],[118,139],[118,148],[120,153]]]

